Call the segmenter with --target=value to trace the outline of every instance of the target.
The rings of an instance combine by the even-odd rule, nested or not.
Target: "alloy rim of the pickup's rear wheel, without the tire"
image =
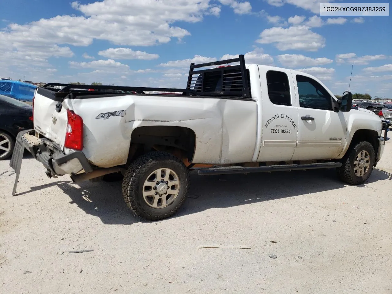
[[[167,207],[176,199],[180,178],[172,169],[160,168],[151,172],[143,184],[143,199],[153,208]]]

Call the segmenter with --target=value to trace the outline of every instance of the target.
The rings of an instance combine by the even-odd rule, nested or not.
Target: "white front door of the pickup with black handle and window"
[[[298,142],[292,160],[334,159],[341,152],[347,126],[334,112],[332,94],[306,74],[292,72],[298,97]]]

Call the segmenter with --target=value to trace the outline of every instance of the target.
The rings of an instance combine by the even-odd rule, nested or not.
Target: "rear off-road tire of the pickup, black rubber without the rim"
[[[143,184],[155,169],[166,167],[177,173],[180,188],[173,203],[163,208],[153,208],[143,199]],[[131,163],[125,172],[122,194],[131,211],[145,220],[156,221],[171,217],[183,205],[189,191],[189,172],[185,164],[167,152],[154,151],[144,154]]]

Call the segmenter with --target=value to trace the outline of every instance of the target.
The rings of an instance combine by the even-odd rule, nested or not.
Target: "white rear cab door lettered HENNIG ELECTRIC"
[[[259,67],[263,119],[258,162],[291,160],[297,144],[298,108],[289,69]]]

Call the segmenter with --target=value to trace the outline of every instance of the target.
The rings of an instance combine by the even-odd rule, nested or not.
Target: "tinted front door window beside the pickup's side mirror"
[[[307,76],[296,75],[299,106],[332,110],[332,97],[318,82]]]

